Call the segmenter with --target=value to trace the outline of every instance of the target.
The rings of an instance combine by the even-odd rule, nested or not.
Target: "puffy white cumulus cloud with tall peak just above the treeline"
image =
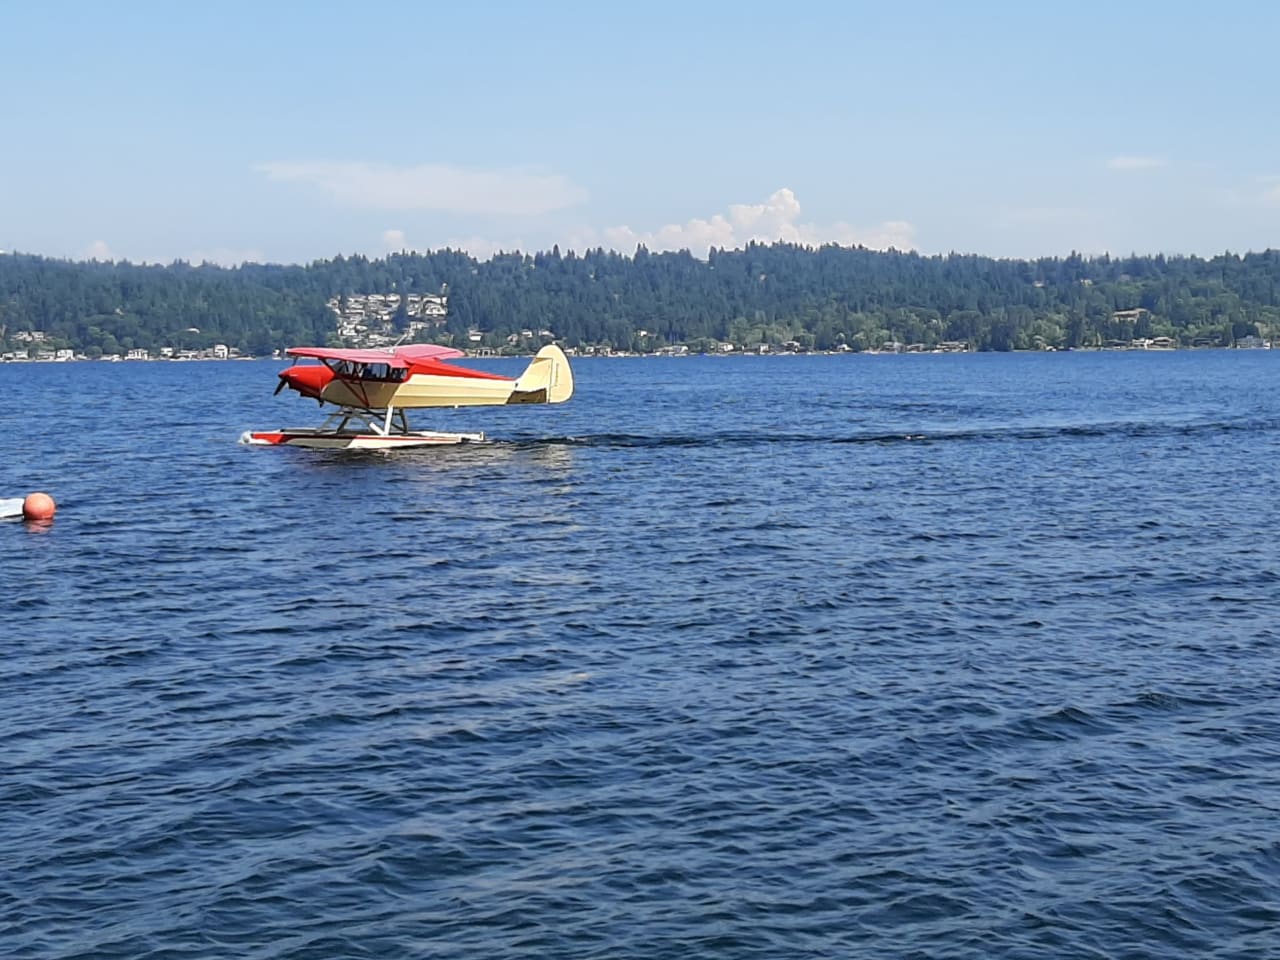
[[[751,241],[760,243],[785,241],[805,246],[860,244],[874,250],[888,247],[911,250],[915,244],[915,228],[905,220],[886,220],[874,227],[852,227],[844,221],[803,223],[800,201],[786,187],[776,191],[763,204],[732,204],[726,214],[716,214],[707,220],[695,218],[684,224],[667,224],[652,232],[635,230],[631,227],[609,227],[602,230],[600,236],[603,244],[594,234],[589,234],[581,238],[585,242],[580,246],[608,246],[630,253],[636,244],[643,243],[652,251],[689,250],[692,253],[705,255],[709,247],[733,250],[745,247]]]

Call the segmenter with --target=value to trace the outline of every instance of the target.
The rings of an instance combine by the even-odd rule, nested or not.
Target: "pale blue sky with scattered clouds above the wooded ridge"
[[[0,0],[0,250],[1280,247],[1280,5]]]

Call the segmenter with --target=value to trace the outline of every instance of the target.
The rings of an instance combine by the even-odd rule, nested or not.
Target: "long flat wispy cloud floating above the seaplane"
[[[525,170],[369,163],[266,163],[256,169],[273,180],[305,183],[338,202],[379,210],[536,216],[586,200],[586,191],[564,177]]]

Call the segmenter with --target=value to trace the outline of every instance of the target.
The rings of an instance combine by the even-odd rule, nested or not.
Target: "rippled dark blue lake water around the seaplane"
[[[280,367],[0,366],[0,954],[1280,955],[1280,352]]]

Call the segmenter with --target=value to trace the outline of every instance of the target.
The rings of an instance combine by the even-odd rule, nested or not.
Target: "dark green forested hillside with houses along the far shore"
[[[456,346],[475,346],[471,332],[503,347],[509,334],[544,329],[570,347],[636,351],[947,340],[1006,351],[1153,337],[1231,346],[1280,335],[1280,251],[995,260],[774,243],[705,260],[643,247],[488,261],[444,250],[238,268],[10,253],[0,256],[0,346],[26,349],[20,334],[38,330],[46,346],[90,356],[214,343],[262,355],[330,340],[329,297],[442,288],[448,317],[421,338]]]

